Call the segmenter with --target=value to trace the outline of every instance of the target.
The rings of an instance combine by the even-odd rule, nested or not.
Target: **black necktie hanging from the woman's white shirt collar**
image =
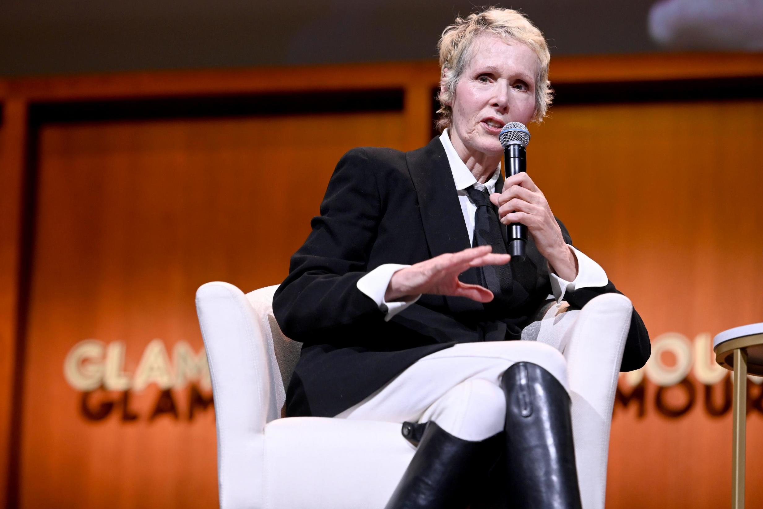
[[[492,246],[493,253],[506,254],[506,241],[501,233],[501,221],[498,221],[498,214],[490,201],[488,191],[480,191],[474,185],[470,185],[466,188],[466,192],[472,199],[472,203],[477,205],[472,247]],[[497,304],[502,298],[511,295],[513,278],[508,264],[478,267],[478,273],[481,276],[481,284],[493,292],[494,303]]]

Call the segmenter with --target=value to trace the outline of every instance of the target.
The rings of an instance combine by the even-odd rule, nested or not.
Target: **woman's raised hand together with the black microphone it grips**
[[[526,172],[526,150],[530,133],[519,122],[509,122],[499,135],[504,147],[506,181],[501,194],[493,193],[490,200],[498,207],[498,219],[509,225],[507,252],[512,259],[523,259],[527,231],[540,254],[549,261],[562,279],[575,279],[575,255],[562,237],[562,229],[549,208],[546,196]],[[570,279],[568,279],[568,277]]]

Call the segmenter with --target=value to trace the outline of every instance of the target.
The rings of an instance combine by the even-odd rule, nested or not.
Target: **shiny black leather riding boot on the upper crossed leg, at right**
[[[570,398],[532,362],[504,372],[508,498],[524,509],[580,509]]]

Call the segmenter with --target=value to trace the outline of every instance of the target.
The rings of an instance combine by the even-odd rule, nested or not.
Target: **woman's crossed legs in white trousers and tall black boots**
[[[387,509],[507,507],[509,479],[527,507],[579,507],[565,366],[544,343],[459,343],[336,417],[428,423]]]

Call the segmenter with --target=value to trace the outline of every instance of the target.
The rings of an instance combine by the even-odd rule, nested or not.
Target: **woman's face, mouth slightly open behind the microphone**
[[[508,122],[527,125],[535,112],[535,79],[540,62],[529,46],[482,34],[456,84],[451,140],[465,153],[500,156],[498,140]],[[462,153],[459,150],[459,153]]]

